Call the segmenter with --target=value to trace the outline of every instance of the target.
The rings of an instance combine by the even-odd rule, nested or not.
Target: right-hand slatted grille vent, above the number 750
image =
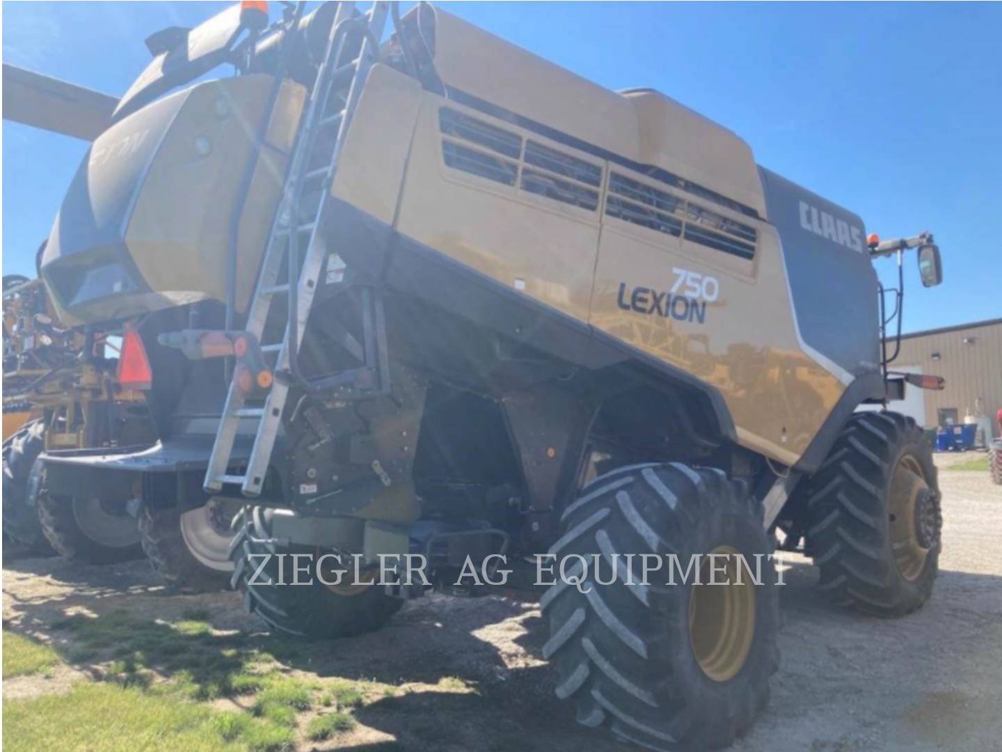
[[[755,258],[755,228],[619,172],[609,174],[605,214],[741,259]]]

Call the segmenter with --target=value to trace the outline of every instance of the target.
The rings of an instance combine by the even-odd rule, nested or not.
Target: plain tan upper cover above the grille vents
[[[479,100],[587,145],[681,178],[766,217],[752,149],[653,89],[610,91],[435,7],[435,69],[450,96]]]

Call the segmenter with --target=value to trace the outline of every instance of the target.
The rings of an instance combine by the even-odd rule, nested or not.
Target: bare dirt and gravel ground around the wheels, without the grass
[[[881,621],[836,611],[815,590],[817,572],[788,559],[782,591],[783,664],[773,698],[736,752],[997,750],[1002,748],[1002,487],[987,473],[951,471],[970,455],[939,455],[944,550],[932,599],[917,614]],[[78,567],[60,558],[11,558],[3,569],[4,625],[43,640],[73,613],[125,610],[179,619],[207,609],[213,627],[260,633],[232,593],[170,597],[144,562]],[[533,604],[433,596],[405,606],[374,635],[317,645],[298,670],[376,680],[404,692],[355,712],[340,749],[624,749],[574,722],[552,693],[541,658],[546,628]],[[85,680],[63,668],[46,691]],[[444,693],[443,678],[472,693]],[[4,697],[30,696],[30,677]]]

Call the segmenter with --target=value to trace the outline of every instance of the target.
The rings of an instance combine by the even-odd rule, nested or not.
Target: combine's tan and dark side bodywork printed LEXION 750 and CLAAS
[[[543,304],[554,331],[626,344],[697,380],[725,430],[784,463],[801,459],[858,377],[857,401],[882,393],[877,277],[858,217],[760,177],[743,141],[668,97],[610,92],[448,13],[436,20],[448,98],[377,66],[335,197],[392,224],[415,253]],[[487,74],[498,59],[510,75]],[[820,232],[801,226],[802,205]],[[395,274],[403,257],[391,284],[448,306],[447,273],[426,272],[415,290],[412,274]],[[463,313],[483,323],[483,311]]]

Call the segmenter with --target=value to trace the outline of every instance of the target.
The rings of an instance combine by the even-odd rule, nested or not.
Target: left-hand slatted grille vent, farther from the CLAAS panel
[[[602,167],[454,109],[439,110],[447,166],[595,212]],[[524,143],[523,143],[524,141]]]

